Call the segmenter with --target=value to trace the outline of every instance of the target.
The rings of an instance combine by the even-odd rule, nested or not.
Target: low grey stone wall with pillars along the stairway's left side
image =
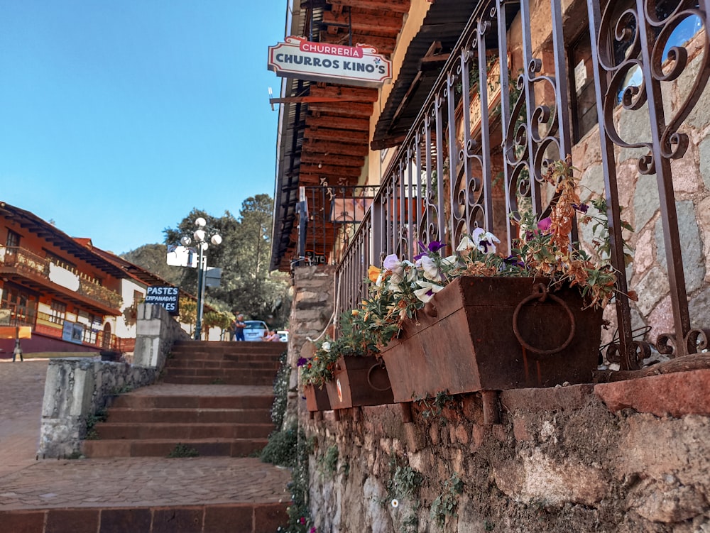
[[[87,424],[111,398],[154,383],[175,341],[190,339],[159,305],[139,304],[133,364],[95,358],[57,358],[47,368],[38,456],[80,453]]]

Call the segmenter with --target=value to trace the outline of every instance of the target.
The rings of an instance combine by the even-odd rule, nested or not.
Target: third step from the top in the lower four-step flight
[[[266,439],[273,431],[271,421],[265,424],[172,422],[104,422],[97,424],[99,440],[162,439],[192,441],[197,439]]]

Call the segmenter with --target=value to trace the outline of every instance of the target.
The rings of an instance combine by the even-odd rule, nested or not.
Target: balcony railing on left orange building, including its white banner
[[[65,287],[111,309],[119,309],[123,299],[117,292],[99,285],[97,280],[81,273],[76,268],[58,265],[17,246],[0,246],[0,268],[15,269],[18,274],[40,279]]]

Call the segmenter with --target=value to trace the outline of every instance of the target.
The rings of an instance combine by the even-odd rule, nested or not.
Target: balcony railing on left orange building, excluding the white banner
[[[32,277],[39,276],[50,282],[50,265],[53,265],[52,261],[24,248],[0,246],[0,267],[15,268],[18,273]],[[65,265],[56,266],[75,276],[78,282],[75,290],[77,294],[89,297],[113,309],[121,307],[123,298],[119,293],[99,285],[95,280],[75,268],[67,268]]]

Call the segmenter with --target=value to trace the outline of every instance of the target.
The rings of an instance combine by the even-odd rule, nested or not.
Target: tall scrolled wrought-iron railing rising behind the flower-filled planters
[[[535,17],[530,16],[530,4],[482,1],[472,14],[382,177],[371,209],[349,239],[337,268],[336,316],[366,296],[362,280],[368,265],[380,266],[387,254],[411,260],[419,240],[442,241],[451,251],[461,235],[476,226],[498,235],[503,241],[499,248],[510,251],[517,236],[510,216],[517,217],[524,204],[538,219],[547,216],[554,199],[542,175],[550,160],[572,153],[572,126],[577,126],[578,117],[573,124],[568,96],[574,91],[568,93],[568,88],[571,81],[581,83],[588,77],[589,90],[596,92],[591,109],[596,96],[596,114],[601,117],[593,134],[601,136],[604,190],[596,192],[606,194],[618,289],[628,292],[619,199],[623,185],[617,179],[621,147],[626,152],[640,149],[638,172],[655,173],[643,187],[657,187],[660,197],[674,332],[660,336],[656,347],[671,357],[696,353],[708,339],[706,330],[690,326],[673,187],[674,172],[682,172],[683,166],[672,168],[670,163],[685,154],[689,139],[679,126],[710,75],[705,33],[710,1],[702,1],[699,8],[692,1],[608,2],[603,13],[598,0],[588,0],[586,6],[584,0],[564,2],[566,10],[577,8],[570,16],[569,11],[563,13],[561,0],[549,0],[538,2],[535,9],[538,15],[550,11]],[[513,18],[522,23],[513,24]],[[694,35],[699,35],[696,48],[702,61],[687,99],[671,106],[670,83],[689,59],[674,35],[688,20],[700,28]],[[571,31],[575,35],[569,35]],[[579,31],[581,38],[586,35],[589,57],[581,67],[574,65],[571,80],[566,47],[578,42]],[[634,76],[638,81],[629,82]],[[641,132],[641,141],[619,136],[614,113],[620,105],[623,112],[647,114],[648,130]],[[670,110],[673,116],[665,118],[664,111]],[[622,370],[634,370],[650,354],[650,344],[634,338],[628,298],[617,297],[615,305],[618,340],[606,356]]]

